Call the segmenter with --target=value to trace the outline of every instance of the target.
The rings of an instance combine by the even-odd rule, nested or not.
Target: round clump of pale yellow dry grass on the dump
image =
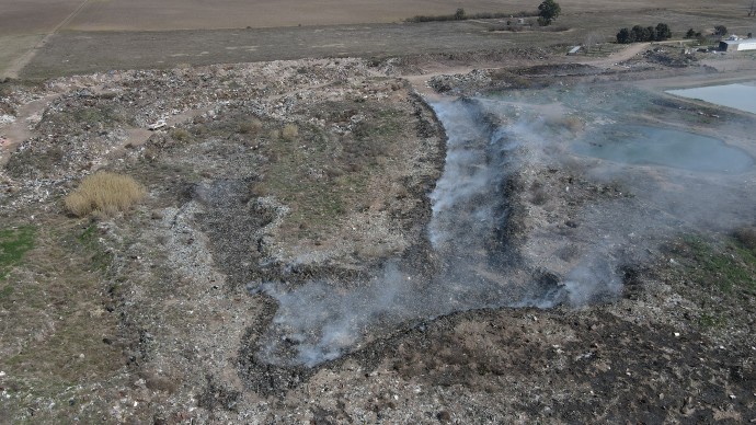
[[[84,177],[65,203],[66,209],[79,217],[111,215],[128,209],[145,194],[145,187],[131,176],[101,171]]]

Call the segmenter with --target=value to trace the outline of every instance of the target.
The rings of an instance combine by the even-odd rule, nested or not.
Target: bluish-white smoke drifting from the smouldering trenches
[[[596,117],[577,99],[581,95],[574,93],[574,99],[563,99],[563,103],[585,107],[583,112],[588,117],[594,114],[596,123],[612,123],[616,116]],[[570,110],[497,100],[435,103],[433,107],[448,137],[444,173],[429,194],[428,240],[438,272],[421,277],[402,269],[401,259],[393,259],[365,282],[318,280],[293,290],[267,283],[260,289],[277,301],[278,310],[260,341],[261,360],[316,366],[358,349],[381,330],[455,311],[584,306],[615,299],[622,291],[619,269],[625,264],[648,260],[658,243],[676,232],[723,214],[732,223],[756,207],[753,200],[737,202],[743,191],[753,189],[753,173],[748,174],[752,183],[738,194],[728,191],[738,176],[712,180],[709,174],[603,163],[587,175],[598,182],[622,181],[635,197],[594,200],[581,211],[576,257],[566,269],[547,269],[558,282],[547,279],[543,286],[527,264],[509,262],[508,254],[502,254],[505,246],[496,244],[496,232],[507,219],[502,183],[511,172],[542,170],[547,162],[560,163],[570,157],[574,134],[549,127],[549,120],[561,119]],[[597,108],[611,114],[612,106]],[[734,205],[722,207],[724,202]],[[561,236],[535,231],[531,238],[555,243]],[[569,239],[565,242],[573,244]]]

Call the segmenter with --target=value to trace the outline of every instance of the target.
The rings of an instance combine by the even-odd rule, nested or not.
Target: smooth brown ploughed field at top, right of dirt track
[[[275,27],[296,25],[333,25],[353,23],[388,23],[402,21],[409,16],[424,14],[454,13],[463,8],[468,13],[476,12],[519,12],[536,10],[539,1],[514,0],[221,0],[206,2],[150,0],[90,1],[77,14],[68,30],[77,31],[162,31],[186,28],[239,28]],[[561,1],[568,12],[672,9],[680,11],[708,11],[721,13],[744,9],[743,0],[728,0],[712,4],[705,1],[619,1],[619,0],[568,0]]]

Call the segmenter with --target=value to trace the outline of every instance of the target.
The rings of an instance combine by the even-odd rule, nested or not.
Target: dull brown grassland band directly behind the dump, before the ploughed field
[[[385,3],[381,3],[381,7]],[[89,10],[88,7],[100,10],[99,8],[118,8],[123,4],[93,2],[77,12],[76,16],[81,18],[81,14]],[[577,4],[571,8],[564,5],[564,14],[552,26],[539,27],[534,24],[525,26],[524,31],[508,31],[507,28],[512,27],[507,26],[507,20],[410,24],[401,20],[385,20],[381,18],[382,14],[369,15],[370,19],[365,15],[365,21],[358,18],[359,14],[353,14],[351,20],[345,21],[348,23],[336,22],[337,24],[334,25],[324,25],[333,23],[329,20],[316,20],[302,26],[288,27],[236,25],[225,24],[232,21],[207,18],[213,16],[209,12],[202,14],[204,16],[202,22],[206,24],[191,21],[191,25],[190,23],[184,25],[181,20],[160,19],[160,25],[141,27],[138,23],[149,22],[149,14],[154,10],[151,8],[139,10],[129,3],[129,13],[141,13],[148,16],[140,15],[139,19],[135,16],[134,20],[128,21],[131,24],[127,27],[117,25],[101,27],[96,24],[98,19],[94,18],[87,20],[91,23],[91,27],[70,26],[69,21],[61,22],[48,34],[45,43],[38,44],[33,53],[25,55],[23,64],[28,62],[28,66],[23,69],[22,76],[37,79],[117,69],[173,68],[183,65],[313,57],[386,58],[442,53],[448,55],[474,51],[506,53],[531,48],[546,48],[549,53],[565,54],[570,46],[584,44],[588,39],[592,41],[591,43],[614,42],[617,31],[622,26],[655,25],[658,22],[667,23],[673,28],[675,37],[680,37],[689,27],[709,34],[714,25],[720,24],[725,25],[731,33],[735,34],[747,34],[756,30],[753,20],[742,13],[740,4],[723,4],[721,8],[718,5],[717,12],[709,10],[694,12],[696,8],[691,8],[694,7],[687,3],[683,9],[674,4],[665,9],[648,8],[643,4],[634,4],[629,9],[606,9],[606,7],[596,9],[588,3],[585,3],[585,9]],[[707,9],[705,5],[700,8]],[[187,13],[191,12],[191,8],[186,10]],[[390,10],[405,13],[404,8]],[[519,10],[513,11],[513,13],[516,12]],[[112,13],[123,22],[123,13],[114,11],[102,11],[102,13],[105,16]],[[222,11],[222,13],[229,12]],[[275,23],[279,14],[254,15],[265,16],[266,22]],[[411,15],[409,13],[404,18]],[[245,18],[248,14],[238,13],[234,16]],[[69,19],[71,22],[77,21],[71,16]],[[508,21],[512,22],[512,20]],[[535,23],[534,19],[528,20],[530,21]],[[224,22],[224,24],[220,25],[218,22]],[[359,22],[365,23],[356,24]],[[714,39],[711,41],[711,44],[715,43]],[[595,54],[606,55],[610,51],[609,48],[609,51]],[[10,58],[11,54],[8,55]],[[502,55],[499,61],[509,61],[518,57],[522,55]],[[547,55],[539,53],[528,55],[528,58],[534,60],[542,60],[546,57]],[[20,68],[16,68],[13,70],[19,71]]]

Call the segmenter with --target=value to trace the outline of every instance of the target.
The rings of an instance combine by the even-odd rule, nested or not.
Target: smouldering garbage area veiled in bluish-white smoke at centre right
[[[586,134],[564,118],[574,116],[564,106],[574,101],[568,96],[555,111],[492,100],[434,104],[448,137],[444,173],[428,195],[434,273],[417,275],[398,257],[348,286],[254,287],[279,306],[259,342],[259,359],[312,367],[358,351],[387,329],[457,311],[575,307],[620,297],[627,267],[657,255],[665,238],[702,226],[669,209],[669,199],[702,200],[711,189],[667,194],[666,182],[708,176],[654,164],[616,165],[606,174],[605,162],[573,151]],[[598,110],[577,112],[589,127],[616,118]]]

